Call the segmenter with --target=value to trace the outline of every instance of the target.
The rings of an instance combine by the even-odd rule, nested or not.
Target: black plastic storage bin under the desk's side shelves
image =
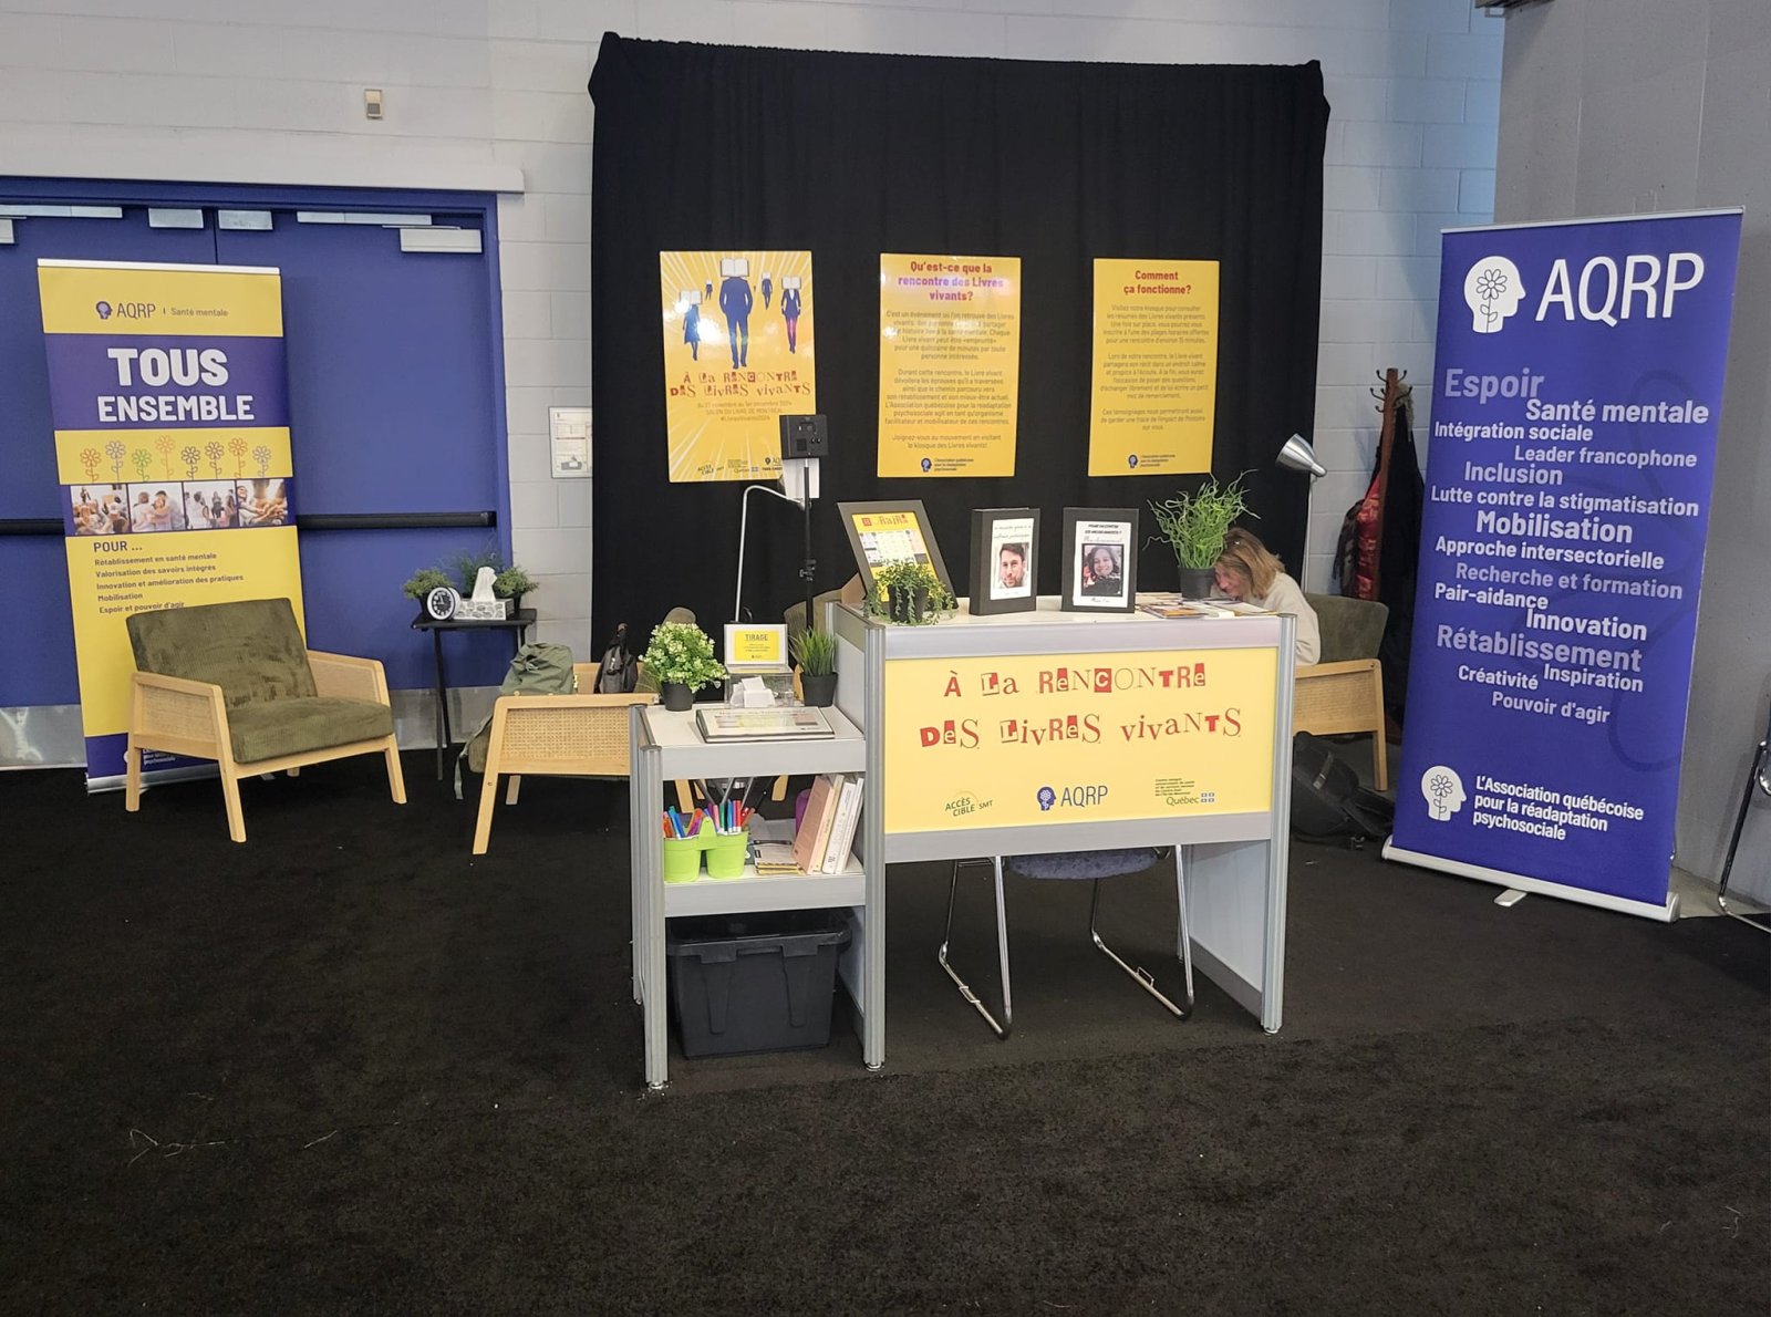
[[[827,910],[673,919],[664,951],[682,1055],[825,1046],[848,936]]]

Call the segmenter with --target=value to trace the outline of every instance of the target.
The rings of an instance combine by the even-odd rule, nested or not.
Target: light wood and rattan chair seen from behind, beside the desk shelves
[[[602,664],[572,664],[576,696],[499,696],[485,745],[485,781],[480,784],[480,818],[473,828],[473,853],[485,855],[492,837],[492,805],[498,779],[510,777],[505,804],[517,804],[522,774],[549,777],[627,777],[627,710],[652,705],[657,696],[636,690],[599,696]]]

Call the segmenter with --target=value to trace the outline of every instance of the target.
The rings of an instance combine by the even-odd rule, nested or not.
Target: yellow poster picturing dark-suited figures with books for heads
[[[781,418],[818,411],[809,251],[661,251],[673,483],[774,480]]]

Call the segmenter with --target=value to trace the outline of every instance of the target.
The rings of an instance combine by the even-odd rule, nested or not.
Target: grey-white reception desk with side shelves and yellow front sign
[[[692,715],[632,713],[634,998],[646,1082],[668,1078],[664,920],[841,906],[862,1059],[886,1064],[887,867],[1178,846],[1194,965],[1275,1032],[1284,1005],[1293,620],[1031,612],[893,627],[829,605],[831,742],[703,745]],[[862,772],[859,869],[666,885],[673,777]]]

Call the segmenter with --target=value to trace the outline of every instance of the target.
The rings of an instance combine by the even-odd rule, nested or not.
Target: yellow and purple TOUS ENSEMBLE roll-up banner
[[[275,269],[39,260],[87,786],[120,786],[124,618],[289,598],[296,556]],[[188,768],[149,752],[143,770]]]

